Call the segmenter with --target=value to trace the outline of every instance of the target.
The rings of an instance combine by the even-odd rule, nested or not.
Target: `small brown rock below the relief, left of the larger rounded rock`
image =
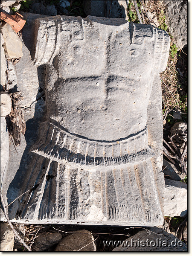
[[[58,244],[61,241],[62,235],[60,233],[48,233],[48,234],[41,234],[34,240],[33,247],[35,248],[36,252],[42,252],[47,250],[54,244]]]

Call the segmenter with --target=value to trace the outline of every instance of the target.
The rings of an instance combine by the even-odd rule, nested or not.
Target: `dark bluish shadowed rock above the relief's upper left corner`
[[[54,4],[44,6],[44,4],[41,2],[37,3],[32,3],[30,8],[33,10],[33,12],[41,15],[50,15],[50,16],[55,16],[57,15],[57,10],[54,6]]]

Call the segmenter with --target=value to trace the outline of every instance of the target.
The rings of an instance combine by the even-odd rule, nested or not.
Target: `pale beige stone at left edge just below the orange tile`
[[[3,44],[7,58],[20,58],[22,53],[22,42],[12,27],[6,23],[1,27],[5,43]]]

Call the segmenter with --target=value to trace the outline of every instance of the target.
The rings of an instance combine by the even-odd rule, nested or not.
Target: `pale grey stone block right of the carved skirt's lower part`
[[[187,184],[165,179],[165,216],[185,217],[187,214]]]

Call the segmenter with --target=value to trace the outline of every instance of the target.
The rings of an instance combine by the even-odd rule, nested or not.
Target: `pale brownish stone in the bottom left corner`
[[[14,246],[14,233],[6,222],[1,222],[1,252],[12,252]]]

